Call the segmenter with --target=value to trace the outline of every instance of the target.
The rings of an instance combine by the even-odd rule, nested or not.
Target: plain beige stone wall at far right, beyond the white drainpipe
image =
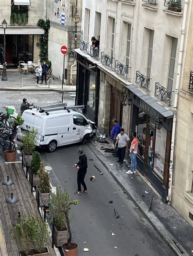
[[[193,6],[179,92],[172,205],[193,226]]]

